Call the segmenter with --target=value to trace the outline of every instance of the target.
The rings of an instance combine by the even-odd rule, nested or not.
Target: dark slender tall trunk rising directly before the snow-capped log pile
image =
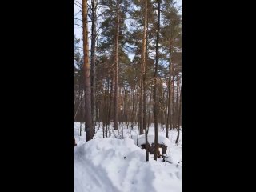
[[[159,30],[160,30],[160,0],[158,2],[158,28],[157,28],[157,42],[156,42],[156,58],[155,58],[155,70],[154,70],[154,160],[158,158],[158,100],[157,100],[157,78],[158,78],[158,42],[159,42]]]

